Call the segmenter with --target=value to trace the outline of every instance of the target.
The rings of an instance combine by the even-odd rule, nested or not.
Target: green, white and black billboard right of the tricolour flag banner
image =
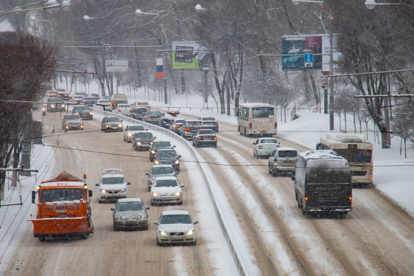
[[[172,42],[172,69],[211,67],[207,47],[197,42]]]

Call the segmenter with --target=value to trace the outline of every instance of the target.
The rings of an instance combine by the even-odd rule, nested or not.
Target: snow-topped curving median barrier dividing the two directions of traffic
[[[105,116],[105,112],[104,110],[99,110],[99,109],[95,109],[92,108],[94,110],[94,113],[96,114],[101,114]],[[227,230],[228,229],[228,224],[226,222],[226,220],[224,219],[224,216],[222,215],[222,210],[220,208],[220,205],[217,205],[218,199],[215,195],[215,191],[214,189],[212,189],[211,187],[211,181],[209,179],[209,176],[207,175],[205,168],[204,168],[204,164],[199,163],[199,159],[198,159],[198,154],[197,152],[194,150],[194,147],[192,147],[192,145],[183,137],[177,135],[175,132],[172,132],[168,129],[164,129],[161,128],[159,126],[155,126],[155,125],[151,125],[142,121],[138,121],[135,119],[132,119],[130,117],[127,116],[123,116],[123,115],[119,115],[116,113],[111,113],[111,112],[107,112],[106,115],[111,114],[111,116],[116,116],[119,119],[125,121],[125,122],[129,122],[132,124],[142,124],[144,127],[146,127],[147,129],[152,129],[152,130],[156,130],[158,132],[161,132],[171,138],[174,138],[176,141],[178,141],[181,145],[187,147],[188,151],[191,153],[191,156],[194,158],[195,161],[197,161],[195,164],[197,164],[198,168],[200,169],[201,172],[201,176],[204,180],[204,183],[206,184],[207,187],[207,191],[208,191],[208,195],[210,196],[210,200],[213,203],[213,207],[214,207],[214,211],[216,213],[217,219],[220,223],[220,227],[223,231],[223,235],[226,238],[227,241],[227,245],[230,249],[231,255],[233,256],[234,262],[236,263],[237,269],[239,270],[239,274],[241,276],[248,276],[248,272],[245,266],[245,263],[243,261],[243,259],[239,258],[240,256],[240,251],[237,247],[237,245],[234,243],[234,239],[232,237],[232,234]]]

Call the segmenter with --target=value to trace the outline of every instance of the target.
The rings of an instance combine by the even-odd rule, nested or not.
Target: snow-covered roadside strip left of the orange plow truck
[[[31,156],[31,168],[37,169],[39,172],[32,172],[32,176],[19,176],[20,181],[15,188],[10,186],[9,181],[6,179],[5,200],[1,204],[23,202],[23,205],[3,206],[0,208],[0,263],[4,262],[8,254],[11,254],[19,244],[19,240],[26,235],[28,226],[20,227],[20,225],[24,225],[22,222],[30,220],[30,214],[34,216],[34,219],[36,218],[37,209],[36,205],[32,204],[32,190],[36,190],[35,187],[40,182],[51,178],[49,171],[53,171],[54,155],[55,151],[52,147],[34,145]],[[11,172],[9,175],[11,178]]]

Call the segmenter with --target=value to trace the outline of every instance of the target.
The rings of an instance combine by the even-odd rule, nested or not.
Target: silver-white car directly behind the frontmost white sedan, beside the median
[[[178,179],[174,176],[161,176],[154,180],[151,188],[151,205],[159,203],[178,203],[183,204],[183,191],[181,190],[184,185],[178,182]]]

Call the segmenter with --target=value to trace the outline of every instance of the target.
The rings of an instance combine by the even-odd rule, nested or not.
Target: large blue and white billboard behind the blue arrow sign
[[[336,37],[333,45],[334,67],[336,67],[340,59],[340,53],[336,51]],[[282,70],[329,70],[329,49],[327,35],[282,37]],[[305,54],[313,54],[312,67],[305,67]]]

